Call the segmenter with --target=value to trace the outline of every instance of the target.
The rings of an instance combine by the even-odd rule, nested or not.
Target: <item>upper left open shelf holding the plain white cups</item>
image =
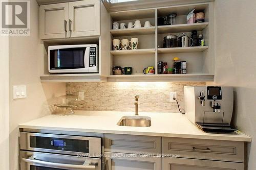
[[[114,37],[155,34],[156,27],[110,30]]]

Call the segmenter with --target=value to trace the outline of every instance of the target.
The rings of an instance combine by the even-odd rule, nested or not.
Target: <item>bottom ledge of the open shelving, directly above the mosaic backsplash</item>
[[[199,81],[212,82],[211,74],[170,74],[170,75],[111,75],[108,82],[171,82],[171,81]]]

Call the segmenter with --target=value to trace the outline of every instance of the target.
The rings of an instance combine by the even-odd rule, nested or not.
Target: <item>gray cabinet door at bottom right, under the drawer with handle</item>
[[[163,170],[244,170],[243,163],[163,157]]]

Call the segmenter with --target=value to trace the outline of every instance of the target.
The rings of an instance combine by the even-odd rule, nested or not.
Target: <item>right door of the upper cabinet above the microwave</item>
[[[100,35],[100,1],[85,0],[69,3],[69,36]]]

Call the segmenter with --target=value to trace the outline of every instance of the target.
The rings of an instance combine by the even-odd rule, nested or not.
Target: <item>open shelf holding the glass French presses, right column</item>
[[[158,48],[159,54],[168,53],[195,53],[203,52],[208,49],[208,46],[189,46],[189,47],[173,47],[173,48]]]

